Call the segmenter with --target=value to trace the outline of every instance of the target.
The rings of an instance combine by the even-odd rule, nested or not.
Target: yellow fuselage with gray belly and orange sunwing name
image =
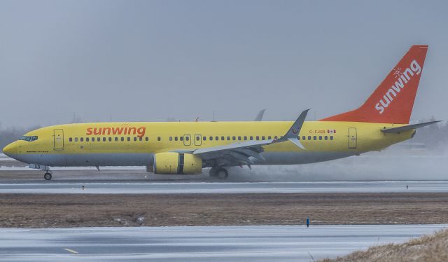
[[[78,123],[33,130],[3,149],[24,163],[47,166],[152,165],[153,154],[194,151],[246,141],[276,139],[293,122],[132,122]],[[304,122],[300,149],[286,141],[263,146],[255,165],[316,163],[381,149],[409,139],[414,130],[381,132],[400,125],[340,121]],[[33,137],[33,138],[29,138]],[[204,159],[203,167],[214,163]]]

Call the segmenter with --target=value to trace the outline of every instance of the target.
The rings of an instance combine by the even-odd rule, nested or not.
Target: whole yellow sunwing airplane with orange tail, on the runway
[[[317,121],[130,122],[53,125],[3,153],[29,167],[146,166],[155,174],[228,177],[228,168],[316,163],[381,151],[439,121],[409,124],[428,46],[412,46],[358,109]],[[258,119],[258,118],[257,118]]]

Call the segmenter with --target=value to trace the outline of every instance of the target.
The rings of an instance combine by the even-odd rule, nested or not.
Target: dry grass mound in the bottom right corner
[[[321,262],[446,262],[448,261],[448,230],[440,230],[434,235],[425,235],[403,244],[386,244],[370,247],[366,251],[356,251],[344,257],[323,259]]]

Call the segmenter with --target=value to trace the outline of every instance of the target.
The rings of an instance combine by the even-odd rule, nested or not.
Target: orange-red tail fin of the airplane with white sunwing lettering
[[[412,46],[362,106],[321,121],[409,123],[427,50]]]

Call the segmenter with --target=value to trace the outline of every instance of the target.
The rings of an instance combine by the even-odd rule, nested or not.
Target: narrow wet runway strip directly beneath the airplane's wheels
[[[83,188],[84,186],[84,188]],[[407,186],[407,187],[406,187]],[[382,193],[448,192],[448,181],[1,181],[0,193]]]

